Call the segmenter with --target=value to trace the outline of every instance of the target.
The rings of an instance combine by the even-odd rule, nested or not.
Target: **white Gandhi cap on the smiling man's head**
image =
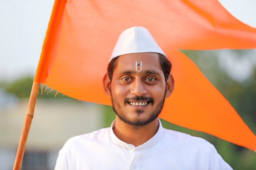
[[[119,35],[109,62],[120,55],[147,52],[165,55],[147,29],[139,26],[131,27]]]

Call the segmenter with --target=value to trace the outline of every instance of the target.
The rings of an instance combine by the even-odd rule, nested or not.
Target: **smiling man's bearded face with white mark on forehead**
[[[172,85],[170,78],[165,82],[157,53],[121,55],[110,84],[113,109],[127,124],[144,126],[158,117]]]

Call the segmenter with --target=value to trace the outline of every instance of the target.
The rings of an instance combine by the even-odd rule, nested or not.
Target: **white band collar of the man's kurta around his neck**
[[[115,127],[115,120],[112,122],[111,124],[111,128],[110,128],[110,138],[111,140],[117,144],[118,146],[124,147],[124,148],[128,148],[128,149],[136,149],[136,150],[142,150],[142,149],[146,149],[149,148],[155,144],[157,144],[163,137],[164,135],[164,129],[163,126],[161,124],[161,121],[158,119],[159,122],[159,128],[157,130],[157,133],[148,141],[146,141],[144,144],[140,145],[140,146],[133,146],[132,144],[127,144],[124,141],[121,141],[114,133],[113,128]]]

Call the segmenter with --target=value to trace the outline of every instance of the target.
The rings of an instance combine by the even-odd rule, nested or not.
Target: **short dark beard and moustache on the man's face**
[[[111,93],[111,91],[110,91]],[[119,102],[115,102],[113,100],[112,97],[112,93],[111,93],[111,102],[112,102],[112,108],[114,110],[114,112],[116,113],[117,117],[119,117],[119,119],[121,119],[121,121],[124,121],[126,124],[129,124],[131,126],[137,126],[137,127],[141,127],[141,126],[145,126],[149,123],[151,123],[152,121],[154,121],[155,119],[157,119],[157,117],[159,116],[159,114],[162,112],[162,109],[164,107],[164,100],[165,100],[165,94],[166,92],[164,92],[164,96],[163,99],[161,100],[161,102],[159,102],[159,104],[157,104],[156,108],[154,110],[152,110],[152,112],[150,113],[150,116],[147,119],[141,120],[139,118],[135,119],[135,120],[130,120],[127,116],[126,113],[121,111],[121,106],[119,104]],[[124,99],[124,104],[127,104],[128,101],[150,101],[149,104],[154,104],[154,99],[152,97],[132,97],[132,98],[125,98]],[[144,110],[140,110],[137,109],[135,110],[135,113],[137,113],[137,115],[139,116],[141,113],[144,113]]]

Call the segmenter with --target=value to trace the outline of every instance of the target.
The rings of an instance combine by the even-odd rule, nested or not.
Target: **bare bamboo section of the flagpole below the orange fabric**
[[[33,82],[30,97],[29,97],[29,104],[27,106],[27,112],[25,115],[25,121],[24,121],[22,132],[20,135],[20,143],[18,145],[18,150],[16,153],[15,162],[13,165],[13,170],[20,170],[20,167],[21,167],[23,155],[26,148],[27,137],[29,135],[29,129],[32,123],[32,119],[34,117],[34,109],[36,105],[36,98],[37,98],[39,86],[40,86],[40,83]]]

